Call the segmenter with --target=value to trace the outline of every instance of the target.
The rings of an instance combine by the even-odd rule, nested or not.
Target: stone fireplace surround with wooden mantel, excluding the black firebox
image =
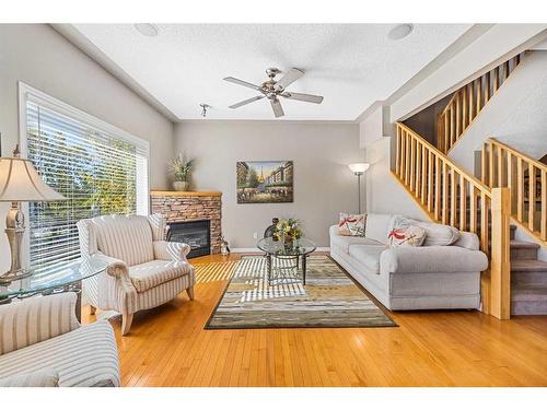
[[[152,213],[164,215],[167,224],[210,221],[211,254],[220,254],[222,192],[153,190],[150,198]]]

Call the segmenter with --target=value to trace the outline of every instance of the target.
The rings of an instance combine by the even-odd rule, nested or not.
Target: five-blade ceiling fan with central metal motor
[[[271,109],[274,109],[274,114],[276,118],[278,118],[284,115],[281,103],[279,102],[280,96],[288,99],[303,101],[305,103],[321,104],[323,102],[323,97],[321,95],[292,93],[286,90],[287,86],[304,75],[304,71],[296,68],[291,68],[281,79],[276,81],[276,75],[279,73],[281,73],[281,70],[277,68],[267,69],[266,74],[269,77],[269,80],[261,83],[261,85],[255,85],[243,80],[234,79],[233,77],[226,77],[224,79],[225,81],[243,86],[248,86],[249,89],[256,90],[261,93],[261,95],[257,95],[253,98],[244,99],[240,103],[233,104],[230,106],[230,108],[238,108],[243,105],[266,97],[270,101]]]

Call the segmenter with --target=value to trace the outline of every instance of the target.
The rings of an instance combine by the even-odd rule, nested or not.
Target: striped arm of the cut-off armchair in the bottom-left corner
[[[0,378],[54,368],[60,387],[119,386],[118,350],[106,320],[0,356]]]

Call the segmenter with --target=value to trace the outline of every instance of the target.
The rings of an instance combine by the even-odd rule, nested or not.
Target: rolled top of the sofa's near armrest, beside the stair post
[[[480,272],[487,268],[482,251],[459,246],[395,247],[380,256],[383,273]]]

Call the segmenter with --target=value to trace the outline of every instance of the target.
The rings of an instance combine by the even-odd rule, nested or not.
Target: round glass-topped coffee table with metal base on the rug
[[[270,284],[294,283],[306,284],[306,259],[317,249],[310,239],[294,239],[291,244],[265,237],[258,241],[258,249],[266,253],[268,282]],[[302,269],[300,269],[302,268]],[[302,277],[299,276],[302,271]]]

